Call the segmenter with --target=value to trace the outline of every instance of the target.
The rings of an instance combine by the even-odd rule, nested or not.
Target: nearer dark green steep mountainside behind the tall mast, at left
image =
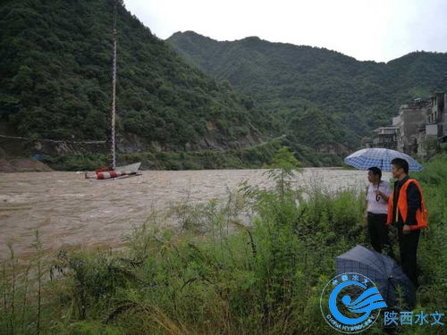
[[[117,1],[117,132],[123,151],[235,149],[273,135],[243,94],[182,60]],[[105,140],[114,0],[0,6],[0,123],[27,138]]]

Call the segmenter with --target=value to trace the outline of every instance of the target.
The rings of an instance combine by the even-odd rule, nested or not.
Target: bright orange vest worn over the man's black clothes
[[[417,224],[411,224],[409,225],[410,230],[418,230],[421,228],[426,227],[426,224],[428,222],[428,212],[426,210],[426,201],[424,199],[424,196],[422,194],[422,188],[419,185],[419,182],[417,180],[407,180],[402,185],[401,190],[399,191],[399,198],[397,201],[397,208],[395,213],[392,213],[392,201],[394,199],[394,191],[392,191],[392,195],[388,199],[388,218],[386,220],[386,224],[392,224],[392,222],[397,222],[399,220],[399,213],[401,213],[403,222],[407,222],[407,214],[409,213],[409,204],[407,203],[407,188],[409,188],[409,184],[411,182],[414,182],[417,186],[417,189],[420,193],[420,208],[417,208],[416,211],[416,222]],[[393,218],[394,216],[394,218]]]

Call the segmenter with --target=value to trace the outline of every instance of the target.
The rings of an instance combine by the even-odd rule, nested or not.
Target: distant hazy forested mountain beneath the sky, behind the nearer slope
[[[447,70],[443,53],[415,52],[375,63],[256,37],[219,42],[186,31],[167,41],[187,62],[252,96],[292,147],[317,150],[358,147],[360,138],[389,124],[400,105],[441,89]]]

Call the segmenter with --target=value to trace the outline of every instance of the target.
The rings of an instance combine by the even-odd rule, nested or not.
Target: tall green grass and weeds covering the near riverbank
[[[291,167],[283,149],[274,158]],[[286,162],[285,164],[283,164]],[[293,164],[295,164],[294,162]],[[416,311],[447,309],[447,155],[421,180],[430,212],[419,242]],[[323,334],[319,298],[334,257],[367,245],[364,195],[246,183],[227,200],[154,213],[121,251],[60,251],[0,276],[0,329],[10,334]],[[175,218],[177,229],[162,229]],[[246,224],[243,218],[249,218]],[[51,279],[50,281],[47,278]],[[434,326],[403,334],[438,334]],[[366,333],[380,334],[380,322]]]

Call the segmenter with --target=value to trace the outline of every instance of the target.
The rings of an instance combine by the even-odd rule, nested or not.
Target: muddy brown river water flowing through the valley
[[[173,203],[225,199],[241,181],[273,188],[266,170],[145,171],[123,180],[85,180],[76,172],[0,173],[0,259],[8,244],[18,255],[33,252],[38,230],[45,250],[75,245],[118,246],[132,227],[153,209]],[[341,169],[304,169],[295,183],[330,191],[357,190],[367,173]],[[389,173],[384,179],[390,178]]]

